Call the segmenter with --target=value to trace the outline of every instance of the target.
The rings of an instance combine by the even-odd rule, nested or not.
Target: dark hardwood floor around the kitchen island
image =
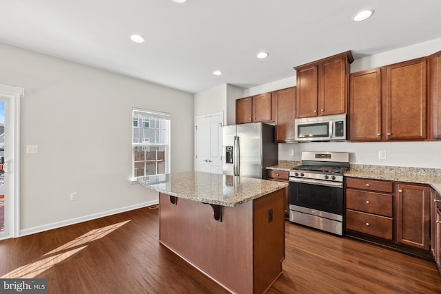
[[[285,231],[284,273],[268,293],[441,293],[433,262],[290,222]],[[0,241],[0,277],[47,277],[49,293],[227,293],[159,244],[150,208]]]

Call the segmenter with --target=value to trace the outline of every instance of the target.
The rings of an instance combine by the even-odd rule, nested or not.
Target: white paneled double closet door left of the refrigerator
[[[223,114],[198,116],[196,123],[195,170],[222,174],[222,125]]]

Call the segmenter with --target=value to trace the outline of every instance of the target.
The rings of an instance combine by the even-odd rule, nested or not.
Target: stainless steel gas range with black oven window
[[[343,234],[343,173],[347,152],[302,152],[301,165],[289,171],[289,220]]]

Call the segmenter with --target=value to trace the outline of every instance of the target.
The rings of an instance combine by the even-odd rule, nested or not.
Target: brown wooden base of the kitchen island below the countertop
[[[236,207],[160,193],[159,240],[232,293],[264,293],[282,273],[285,256],[283,190]],[[271,216],[270,216],[271,215]]]

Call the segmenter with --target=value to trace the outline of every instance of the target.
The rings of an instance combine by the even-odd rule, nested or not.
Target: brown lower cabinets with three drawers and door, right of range
[[[346,235],[427,257],[431,249],[431,197],[433,192],[431,195],[427,185],[346,178]],[[432,207],[432,220],[435,212]],[[434,242],[432,247],[439,248]]]

